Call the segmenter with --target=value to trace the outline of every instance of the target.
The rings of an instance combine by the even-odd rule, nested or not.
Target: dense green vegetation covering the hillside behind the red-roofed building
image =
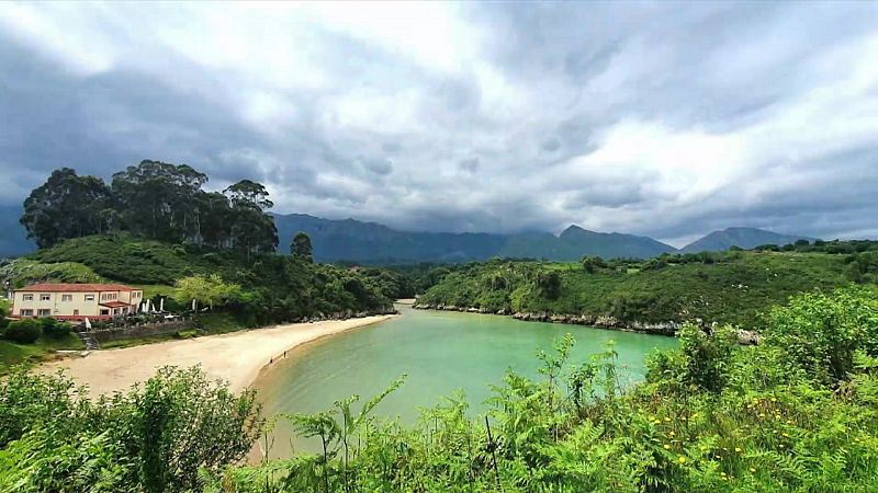
[[[363,275],[356,268],[313,264],[289,255],[216,250],[191,243],[171,245],[127,233],[67,240],[27,259],[15,260],[12,265],[19,262],[31,267],[58,263],[79,265],[103,279],[157,285],[148,291],[168,299],[177,294],[172,286],[180,279],[214,278],[225,288],[237,286],[232,289],[234,293],[216,298],[222,299],[216,305],[222,305],[248,326],[320,314],[386,311],[392,308],[392,297],[396,295],[395,286],[379,271],[374,271],[374,276]],[[23,283],[13,278],[12,284]],[[198,289],[198,286],[189,289],[183,298],[191,301]],[[200,302],[203,301],[210,305],[210,300]],[[181,302],[178,308],[188,306],[189,302]]]

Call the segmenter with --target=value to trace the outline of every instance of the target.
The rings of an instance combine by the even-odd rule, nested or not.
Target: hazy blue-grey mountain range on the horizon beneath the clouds
[[[713,231],[678,250],[649,237],[596,232],[575,225],[559,236],[550,232],[447,233],[399,231],[378,222],[323,219],[306,214],[272,216],[281,239],[279,251],[289,251],[292,237],[304,231],[311,237],[317,262],[351,261],[363,264],[470,262],[493,256],[553,261],[576,261],[583,255],[646,259],[662,253],[722,251],[733,245],[752,249],[766,243],[783,245],[800,239],[812,240],[756,228],[728,228]],[[24,228],[19,223],[19,217],[21,207],[0,207],[0,257],[35,250],[33,241],[26,238]]]

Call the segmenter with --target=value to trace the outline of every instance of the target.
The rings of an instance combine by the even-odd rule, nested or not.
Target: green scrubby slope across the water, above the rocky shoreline
[[[844,255],[734,252],[719,263],[628,266],[587,273],[579,264],[488,262],[448,275],[421,298],[425,303],[513,311],[612,314],[645,322],[706,321],[752,325],[758,312],[796,293],[846,283]],[[536,279],[554,271],[561,296],[548,299]],[[498,280],[502,278],[502,280]]]

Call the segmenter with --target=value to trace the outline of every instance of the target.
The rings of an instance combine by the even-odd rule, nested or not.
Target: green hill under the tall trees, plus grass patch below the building
[[[240,289],[216,307],[216,314],[202,317],[202,330],[209,333],[218,331],[219,325],[227,331],[306,318],[387,312],[394,298],[410,295],[401,275],[385,271],[313,264],[273,253],[247,255],[168,244],[124,233],[67,240],[0,265],[0,283],[12,288],[37,282],[120,282],[144,288],[147,297],[165,297],[165,306],[175,310],[185,309],[173,301],[175,283],[211,274]],[[76,337],[64,343],[0,341],[0,371],[22,359],[44,357],[52,349],[81,347]]]

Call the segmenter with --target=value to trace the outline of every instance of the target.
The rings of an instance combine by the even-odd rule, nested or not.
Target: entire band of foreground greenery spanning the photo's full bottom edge
[[[165,370],[89,403],[66,379],[19,371],[0,387],[0,492],[876,491],[878,291],[798,296],[763,323],[757,346],[687,324],[629,387],[612,347],[570,362],[567,335],[538,354],[539,379],[507,372],[484,420],[463,395],[412,427],[372,415],[397,380],[361,406],[281,416],[319,452],[256,466],[234,463],[260,422],[250,393]],[[804,332],[847,335],[811,358],[795,347]]]

